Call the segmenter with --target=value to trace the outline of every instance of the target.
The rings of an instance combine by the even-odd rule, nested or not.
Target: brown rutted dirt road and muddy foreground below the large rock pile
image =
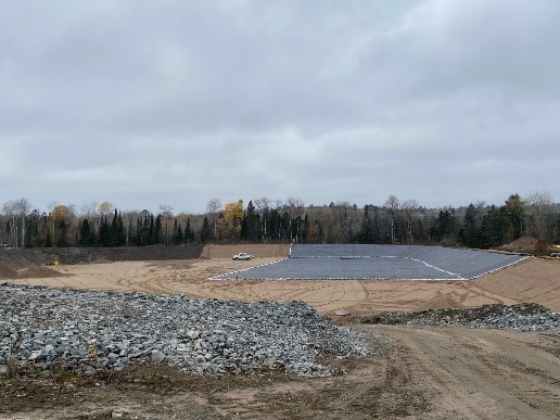
[[[7,419],[558,419],[560,338],[353,326],[377,354],[346,374],[219,379],[138,367],[111,379],[2,386]],[[10,411],[17,408],[18,412]]]

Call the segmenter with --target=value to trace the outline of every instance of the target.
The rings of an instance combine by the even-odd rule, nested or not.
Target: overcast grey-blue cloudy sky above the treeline
[[[2,1],[0,205],[560,200],[560,1]]]

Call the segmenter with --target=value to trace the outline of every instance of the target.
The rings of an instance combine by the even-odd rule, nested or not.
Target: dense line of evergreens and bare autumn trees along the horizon
[[[549,193],[511,194],[501,205],[471,203],[425,208],[390,195],[383,204],[321,206],[267,198],[244,203],[213,199],[204,214],[120,211],[110,202],[53,204],[49,212],[27,199],[8,201],[0,214],[3,247],[144,246],[187,243],[378,243],[493,249],[531,236],[560,243],[560,204]],[[538,251],[538,250],[537,250]]]

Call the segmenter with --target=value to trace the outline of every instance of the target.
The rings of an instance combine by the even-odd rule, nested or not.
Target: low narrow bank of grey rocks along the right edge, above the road
[[[429,309],[420,313],[381,313],[358,319],[362,323],[451,326],[534,331],[560,335],[560,314],[534,303],[484,305],[467,309]]]

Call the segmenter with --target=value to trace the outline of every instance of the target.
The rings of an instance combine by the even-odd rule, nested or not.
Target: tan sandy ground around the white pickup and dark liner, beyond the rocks
[[[21,284],[107,291],[183,293],[192,297],[258,301],[304,301],[332,315],[383,310],[464,308],[484,304],[534,302],[560,311],[560,259],[531,258],[472,281],[220,281],[213,276],[277,262],[288,254],[283,245],[253,245],[243,251],[256,257],[236,262],[239,246],[208,246],[203,258],[169,262],[118,262],[59,266],[43,277],[13,280]],[[40,271],[33,271],[40,275]],[[22,277],[24,275],[24,277]]]

